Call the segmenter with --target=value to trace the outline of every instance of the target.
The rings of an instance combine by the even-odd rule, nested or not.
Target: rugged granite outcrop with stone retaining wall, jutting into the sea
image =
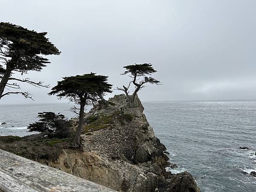
[[[122,94],[95,106],[85,119],[108,119],[109,124],[81,135],[80,149],[64,149],[56,161],[39,161],[120,192],[200,192],[188,172],[166,172],[166,147],[155,137],[138,97],[135,105],[129,108]],[[91,121],[84,128],[92,127]]]

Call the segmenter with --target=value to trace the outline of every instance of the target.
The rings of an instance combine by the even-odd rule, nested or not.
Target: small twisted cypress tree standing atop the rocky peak
[[[151,83],[151,84],[160,84],[160,81],[157,81],[156,79],[152,78],[150,75],[152,73],[157,72],[152,67],[152,64],[144,63],[144,64],[134,64],[134,65],[127,65],[124,67],[126,70],[121,75],[128,74],[129,77],[132,78],[132,81],[130,81],[128,87],[125,87],[123,85],[123,88],[117,87],[117,90],[122,90],[125,92],[125,95],[129,101],[130,107],[134,108],[134,99],[136,94],[140,89],[145,87],[145,83]],[[140,78],[142,77],[142,79]],[[131,86],[131,83],[134,84],[135,90],[134,93],[132,93],[131,96],[129,96],[129,88]]]

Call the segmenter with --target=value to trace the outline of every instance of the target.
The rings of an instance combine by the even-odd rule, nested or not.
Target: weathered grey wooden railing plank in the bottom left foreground
[[[0,172],[9,175],[10,185],[9,189],[4,188],[6,192],[16,192],[12,186],[20,184],[40,192],[113,192],[96,183],[3,150],[0,150]]]

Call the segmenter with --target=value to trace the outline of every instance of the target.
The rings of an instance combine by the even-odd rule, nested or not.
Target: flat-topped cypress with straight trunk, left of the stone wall
[[[56,95],[60,99],[67,97],[71,102],[80,105],[79,123],[73,144],[79,145],[80,135],[84,124],[84,106],[98,102],[106,92],[111,93],[111,84],[108,84],[107,76],[96,76],[96,73],[82,76],[64,77],[62,81],[52,88],[49,95]]]

